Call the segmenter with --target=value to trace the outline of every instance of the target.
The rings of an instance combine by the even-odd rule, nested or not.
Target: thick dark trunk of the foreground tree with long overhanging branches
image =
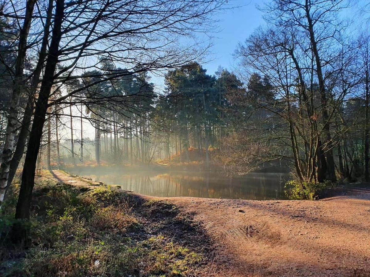
[[[24,161],[22,181],[15,215],[16,219],[30,219],[30,205],[35,180],[37,154],[40,149],[43,126],[48,106],[48,98],[54,81],[55,66],[58,62],[58,48],[61,38],[61,25],[64,16],[64,0],[56,0],[55,2],[56,7],[53,33],[46,62],[45,74],[36,102],[30,140],[28,142],[30,147],[27,147],[26,158]],[[14,225],[13,240],[25,241],[27,236],[27,226],[21,223]]]

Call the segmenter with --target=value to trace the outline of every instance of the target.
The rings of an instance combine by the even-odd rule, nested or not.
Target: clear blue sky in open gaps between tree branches
[[[340,17],[352,21],[350,33],[369,28],[370,6],[367,13],[361,12],[361,8],[370,0],[347,1],[351,8],[343,10]],[[201,62],[209,75],[215,74],[220,65],[229,71],[237,71],[238,61],[233,58],[233,53],[239,42],[244,42],[257,27],[265,24],[263,13],[256,6],[263,7],[266,2],[269,0],[229,0],[228,7],[235,8],[226,9],[214,16],[213,19],[218,21],[216,25],[219,31],[209,34],[213,37],[213,46],[209,49],[209,55]],[[369,20],[364,20],[365,18]],[[152,76],[151,81],[155,83],[158,92],[164,91],[163,76]]]

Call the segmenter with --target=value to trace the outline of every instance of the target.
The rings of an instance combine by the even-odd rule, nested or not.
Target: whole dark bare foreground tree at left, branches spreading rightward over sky
[[[63,103],[103,81],[135,72],[168,69],[200,58],[207,45],[195,42],[180,48],[178,41],[184,36],[191,37],[195,31],[204,31],[203,27],[209,28],[208,15],[226,0],[89,0],[78,3],[56,0],[55,3],[51,41],[34,110],[28,142],[30,147],[24,162],[16,210],[18,219],[29,218],[34,172],[47,108]],[[100,69],[101,58],[120,64],[127,71],[112,69],[110,74],[104,73],[104,80],[100,78],[87,86],[65,90],[69,83],[81,80],[83,76],[86,78],[86,71]],[[64,91],[63,96],[54,97],[59,90]],[[95,100],[102,99],[97,97]],[[15,230],[16,237],[25,237],[22,228]]]

